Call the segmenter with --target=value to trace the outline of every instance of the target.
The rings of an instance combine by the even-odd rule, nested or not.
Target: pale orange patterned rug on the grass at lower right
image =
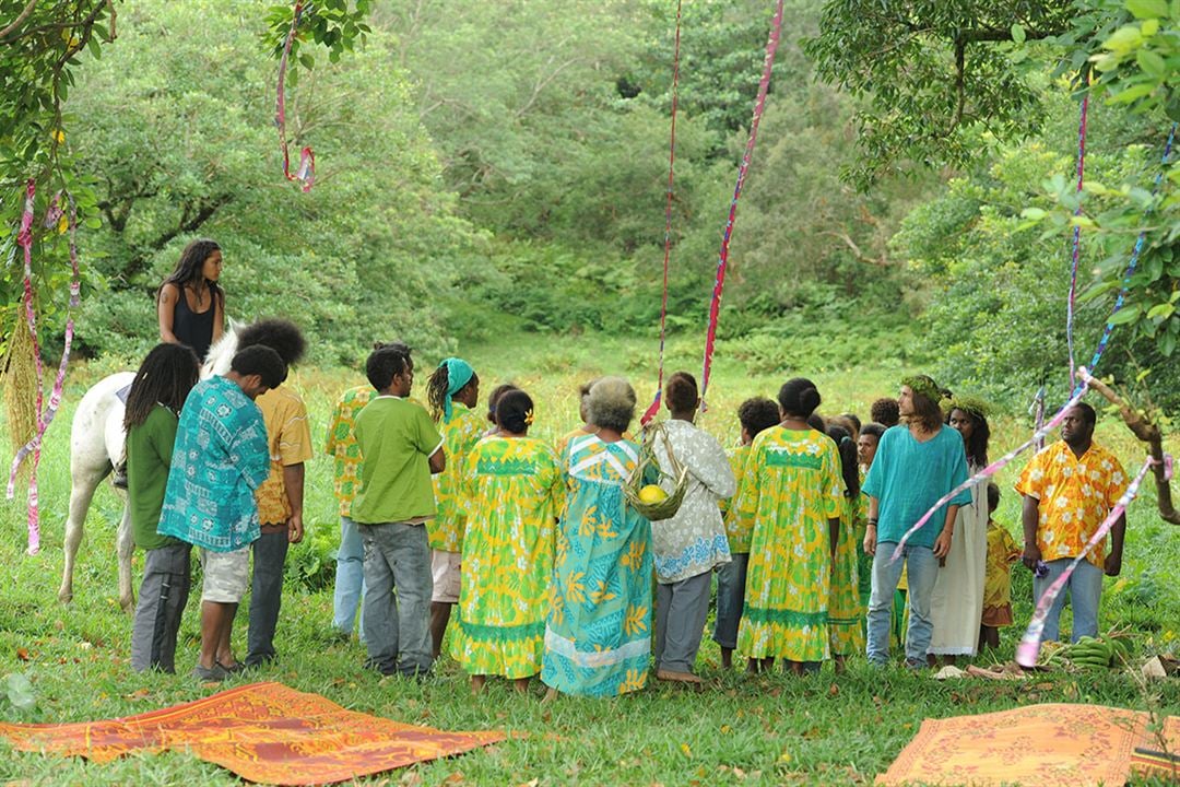
[[[878,785],[1126,783],[1148,762],[1136,747],[1158,750],[1145,713],[1087,704],[1037,704],[977,716],[927,719]],[[1168,752],[1180,750],[1180,719],[1165,727]]]

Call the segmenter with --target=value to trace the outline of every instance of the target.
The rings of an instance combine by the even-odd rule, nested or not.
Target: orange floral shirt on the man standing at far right
[[[1127,491],[1127,476],[1113,453],[1092,442],[1079,459],[1064,440],[1045,447],[1021,473],[1016,491],[1036,498],[1036,542],[1042,560],[1077,557],[1102,520]],[[1106,543],[1087,559],[1106,560]]]

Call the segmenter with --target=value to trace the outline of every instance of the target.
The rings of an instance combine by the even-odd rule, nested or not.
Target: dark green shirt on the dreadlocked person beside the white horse
[[[176,413],[156,405],[143,424],[127,432],[127,505],[131,531],[139,549],[153,550],[177,543],[156,532],[168,470],[172,465],[176,421]]]

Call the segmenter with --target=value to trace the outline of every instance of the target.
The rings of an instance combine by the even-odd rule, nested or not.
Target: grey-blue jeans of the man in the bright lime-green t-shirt
[[[426,527],[359,525],[365,542],[365,643],[369,663],[404,675],[431,668],[431,547]],[[394,598],[396,590],[396,598]]]

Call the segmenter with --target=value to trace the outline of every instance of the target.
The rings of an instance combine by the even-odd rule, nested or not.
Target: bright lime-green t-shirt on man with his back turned
[[[353,520],[363,525],[434,516],[430,457],[442,435],[430,414],[399,396],[376,396],[356,415],[361,490]]]

